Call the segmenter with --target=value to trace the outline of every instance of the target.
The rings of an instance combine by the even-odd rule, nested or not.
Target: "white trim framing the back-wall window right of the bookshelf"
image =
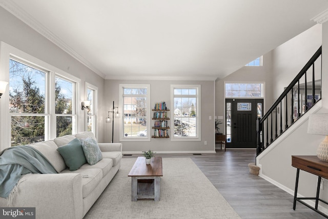
[[[175,137],[174,136],[174,89],[175,88],[186,88],[186,89],[197,89],[197,118],[196,118],[196,137]],[[171,85],[171,141],[201,141],[201,85]]]

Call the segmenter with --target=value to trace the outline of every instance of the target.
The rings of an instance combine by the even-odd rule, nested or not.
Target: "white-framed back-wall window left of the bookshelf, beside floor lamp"
[[[150,141],[150,85],[120,85],[120,140]]]

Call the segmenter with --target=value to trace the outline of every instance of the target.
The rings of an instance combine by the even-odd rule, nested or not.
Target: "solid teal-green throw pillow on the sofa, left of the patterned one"
[[[87,163],[82,145],[78,138],[70,141],[67,145],[58,147],[57,151],[64,158],[65,164],[70,171],[75,171],[80,168],[80,166]]]

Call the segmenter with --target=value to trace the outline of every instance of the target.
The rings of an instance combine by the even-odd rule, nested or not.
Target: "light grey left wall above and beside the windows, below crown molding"
[[[105,81],[104,78],[100,77],[98,74],[85,67],[75,58],[61,50],[44,36],[34,31],[32,28],[27,26],[25,23],[17,19],[2,7],[0,7],[0,27],[0,41],[9,44],[18,50],[28,53],[40,59],[41,61],[46,62],[47,64],[50,64],[60,70],[80,78],[80,100],[85,99],[86,97],[85,82],[88,82],[98,87],[99,103],[103,102]],[[98,127],[103,127],[104,107],[102,104],[99,104],[98,112]],[[84,111],[79,110],[79,114],[80,121],[78,131],[84,131],[86,120],[84,117]],[[0,124],[2,124],[1,128],[4,128],[4,124],[1,121]],[[6,127],[7,125],[8,124],[5,124]],[[102,129],[100,129],[98,135],[100,142],[104,140],[103,133],[104,132]]]

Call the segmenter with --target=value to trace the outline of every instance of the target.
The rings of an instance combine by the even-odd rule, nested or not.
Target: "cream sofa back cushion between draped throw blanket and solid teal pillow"
[[[57,145],[54,143],[54,141],[50,140],[46,142],[34,143],[30,146],[41,152],[57,172],[61,172],[62,170],[66,169],[63,157],[61,157],[59,152],[56,151]]]

